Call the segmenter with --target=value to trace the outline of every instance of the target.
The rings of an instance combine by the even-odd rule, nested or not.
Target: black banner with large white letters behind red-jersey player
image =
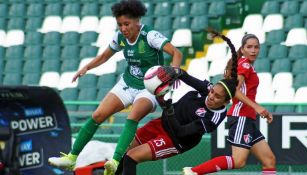
[[[228,135],[227,120],[212,133],[211,156],[231,155],[230,144],[226,141]],[[276,156],[277,164],[307,164],[307,114],[276,114],[271,124],[258,117],[257,127],[265,136]],[[244,136],[246,142],[251,139]],[[250,154],[248,163],[259,163]]]

